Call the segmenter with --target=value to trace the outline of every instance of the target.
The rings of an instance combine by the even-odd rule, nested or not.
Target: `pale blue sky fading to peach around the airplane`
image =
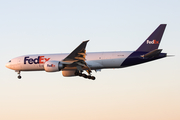
[[[0,4],[1,120],[179,120],[180,2],[178,0],[9,0]],[[175,57],[102,70],[95,81],[61,72],[5,68],[12,58],[68,53],[90,40],[87,52],[136,50],[159,24],[159,48]]]

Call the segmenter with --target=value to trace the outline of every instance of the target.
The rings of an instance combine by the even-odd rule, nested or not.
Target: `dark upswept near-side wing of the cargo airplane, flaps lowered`
[[[86,45],[87,41],[83,41],[74,51],[72,51],[62,63],[66,67],[76,67],[78,71],[82,71],[83,68],[87,69],[87,72],[90,74],[91,69],[86,64]]]

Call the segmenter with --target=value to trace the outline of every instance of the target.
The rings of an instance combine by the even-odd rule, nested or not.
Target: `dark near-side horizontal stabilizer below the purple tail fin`
[[[162,49],[155,49],[153,51],[150,51],[149,53],[145,54],[145,55],[141,55],[142,58],[144,59],[148,59],[148,58],[153,58],[158,56],[161,53]]]

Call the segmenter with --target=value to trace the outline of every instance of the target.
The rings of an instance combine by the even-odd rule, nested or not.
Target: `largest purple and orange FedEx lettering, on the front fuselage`
[[[29,58],[29,56],[24,57],[24,64],[28,62],[29,64],[44,64],[47,62],[50,58],[44,58],[44,56],[38,56],[37,58]]]

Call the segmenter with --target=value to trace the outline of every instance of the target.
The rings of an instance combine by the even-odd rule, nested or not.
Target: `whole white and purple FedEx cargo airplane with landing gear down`
[[[70,54],[23,55],[11,59],[6,67],[15,70],[19,79],[21,71],[62,71],[64,77],[80,76],[95,80],[92,70],[124,68],[167,57],[167,53],[158,49],[165,28],[166,24],[160,24],[136,51],[86,53],[87,40]]]

